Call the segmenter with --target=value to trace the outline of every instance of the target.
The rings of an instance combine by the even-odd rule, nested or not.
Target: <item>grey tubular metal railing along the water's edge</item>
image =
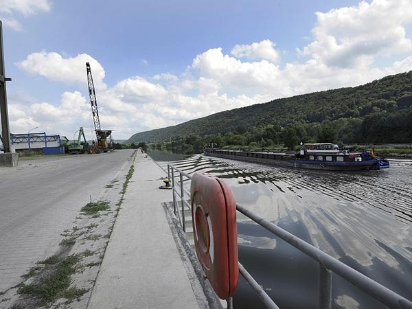
[[[178,174],[179,181],[175,180],[175,173]],[[183,187],[183,182],[190,181],[192,179],[192,176],[170,164],[168,164],[168,176],[169,179],[172,179],[174,214],[176,214],[176,216],[179,217],[179,220],[181,220],[183,231],[185,231],[184,209],[185,205],[188,207],[188,209],[190,209],[191,205],[185,199],[184,194],[186,194],[187,198],[190,198],[190,192],[185,190],[185,188]],[[183,180],[183,177],[185,177],[185,180]],[[179,186],[180,192],[176,190],[176,185]],[[176,194],[181,199],[181,217],[179,215],[179,207],[176,206]],[[288,231],[278,227],[272,222],[258,216],[257,214],[254,214],[252,211],[246,209],[242,205],[236,203],[236,210],[244,216],[247,216],[247,218],[258,223],[258,225],[260,225],[261,227],[264,227],[264,229],[271,231],[271,233],[275,234],[275,236],[282,238],[282,240],[288,242],[288,244],[291,244],[293,247],[305,253],[310,258],[316,260],[319,263],[318,308],[330,309],[332,306],[332,273],[339,275],[347,282],[350,282],[354,286],[357,286],[359,289],[363,290],[365,293],[380,301],[382,304],[389,306],[390,308],[412,308],[412,301],[402,297],[401,295],[398,295],[392,290],[389,290],[389,288],[382,286],[382,284],[379,284],[378,282],[370,279],[362,273],[359,273],[354,268],[347,266],[343,262],[332,258],[332,256],[317,249],[316,247],[312,246],[312,244],[301,240],[292,233],[289,233]],[[279,308],[271,299],[271,297],[269,297],[269,295],[263,290],[262,286],[260,286],[258,282],[253,279],[253,277],[240,263],[239,272],[251,285],[253,290],[258,293],[258,297],[268,308]]]

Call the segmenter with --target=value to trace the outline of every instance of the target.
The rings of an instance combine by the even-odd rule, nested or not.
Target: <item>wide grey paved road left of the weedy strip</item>
[[[0,292],[58,249],[78,211],[98,199],[133,150],[22,160],[0,168]]]

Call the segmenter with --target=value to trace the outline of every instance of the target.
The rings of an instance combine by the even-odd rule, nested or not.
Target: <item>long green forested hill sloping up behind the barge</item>
[[[256,141],[257,137],[247,137],[247,134],[255,134],[256,130],[264,131],[259,133],[262,139],[278,143],[284,142],[284,135],[290,130],[294,132],[288,134],[295,134],[306,141],[333,139],[345,143],[410,143],[411,106],[412,71],[409,71],[358,87],[296,95],[136,133],[126,143],[159,142],[190,136],[214,139],[218,135],[221,139],[232,133],[245,139],[229,144],[247,145]]]

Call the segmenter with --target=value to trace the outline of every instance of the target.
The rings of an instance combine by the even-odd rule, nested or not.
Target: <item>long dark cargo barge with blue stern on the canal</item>
[[[389,168],[389,161],[377,157],[373,150],[349,152],[332,143],[301,144],[299,152],[295,154],[207,148],[205,155],[310,170],[359,171]]]

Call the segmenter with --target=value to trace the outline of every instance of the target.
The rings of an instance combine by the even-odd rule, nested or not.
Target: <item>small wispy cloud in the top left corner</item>
[[[16,19],[16,14],[27,17],[38,12],[49,12],[50,9],[51,4],[49,0],[0,0],[0,19],[5,27],[22,31],[23,26]]]

